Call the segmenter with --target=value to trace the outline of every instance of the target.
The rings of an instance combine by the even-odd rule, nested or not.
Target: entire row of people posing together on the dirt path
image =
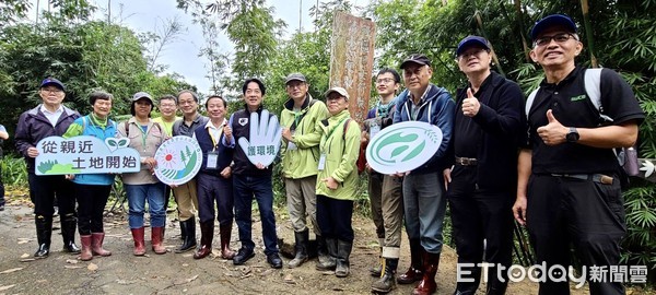
[[[361,130],[349,113],[349,93],[332,87],[325,101],[309,95],[305,75],[285,79],[289,99],[280,115],[281,166],[286,206],[294,231],[297,268],[309,258],[309,228],[317,240],[317,270],[338,278],[350,274],[354,233],[353,201],[359,187],[356,161],[361,145],[382,129],[403,121],[422,121],[441,129],[443,138],[424,164],[410,172],[383,175],[371,167],[368,196],[379,240],[379,261],[371,269],[378,278],[372,291],[387,293],[396,283],[419,282],[412,294],[433,294],[443,247],[443,222],[450,208],[453,238],[465,275],[454,294],[475,294],[481,281],[480,262],[491,263],[485,294],[504,294],[512,263],[513,217],[526,225],[535,262],[571,264],[570,244],[583,266],[619,264],[619,241],[625,233],[620,188],[622,177],[613,148],[632,146],[644,113],[631,87],[614,71],[600,71],[598,109],[584,83],[586,69],[575,64],[583,50],[575,23],[566,15],[549,15],[530,32],[531,59],[544,71],[535,96],[525,103],[519,86],[493,72],[492,47],[480,36],[464,38],[455,51],[467,85],[449,92],[432,84],[433,66],[424,55],[411,55],[401,74],[382,69],[375,79],[379,95]],[[401,86],[406,90],[397,95]],[[191,91],[159,101],[162,117],[151,119],[150,94],[134,94],[132,118],[108,119],[113,96],[90,96],[92,114],[80,116],[63,106],[65,85],[56,79],[40,84],[43,104],[25,111],[16,128],[16,148],[27,161],[30,197],[35,204],[38,250],[47,257],[52,228],[54,198],[61,215],[65,250],[82,260],[109,256],[103,248],[103,210],[114,175],[36,176],[36,143],[49,135],[121,137],[140,153],[142,169],[121,175],[129,202],[129,226],[136,256],[145,253],[144,203],[150,210],[152,249],[163,247],[165,210],[171,190],[180,221],[183,244],[176,252],[196,249],[194,258],[211,253],[214,219],[219,221],[221,257],[235,266],[255,256],[251,203],[256,200],[267,262],[281,268],[273,214],[272,167],[251,163],[237,140],[250,139],[250,118],[263,111],[266,86],[258,79],[242,87],[244,107],[226,118],[227,102],[207,98],[208,117],[199,114]],[[583,98],[582,98],[583,97]],[[176,117],[176,109],[183,117]],[[602,115],[602,116],[601,116]],[[268,115],[274,116],[274,115]],[[601,120],[600,118],[611,118]],[[2,133],[0,132],[0,137]],[[203,153],[195,179],[168,188],[154,175],[156,149],[169,137],[194,137]],[[77,210],[75,210],[77,201]],[[196,240],[196,212],[200,246]],[[218,214],[216,214],[218,213]],[[230,249],[233,220],[241,248]],[[401,228],[410,246],[410,267],[397,276]],[[78,228],[82,248],[74,243]],[[467,264],[465,264],[467,263]],[[496,275],[500,273],[500,275]],[[591,294],[623,294],[621,283],[589,281]],[[567,282],[547,279],[540,294],[569,294]]]

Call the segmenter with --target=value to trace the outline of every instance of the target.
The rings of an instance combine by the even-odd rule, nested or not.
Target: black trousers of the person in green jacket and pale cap
[[[317,194],[317,223],[325,238],[352,243],[354,238],[352,216],[353,201]]]

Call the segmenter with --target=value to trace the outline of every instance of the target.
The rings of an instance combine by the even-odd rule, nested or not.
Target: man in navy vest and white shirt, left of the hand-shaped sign
[[[200,248],[194,258],[202,259],[212,252],[214,237],[214,203],[221,236],[221,258],[232,260],[235,252],[230,249],[233,224],[232,149],[221,144],[223,127],[227,125],[227,102],[212,95],[206,101],[210,120],[204,128],[197,128],[194,137],[202,151],[202,166],[196,176],[198,187],[198,215],[200,217]]]

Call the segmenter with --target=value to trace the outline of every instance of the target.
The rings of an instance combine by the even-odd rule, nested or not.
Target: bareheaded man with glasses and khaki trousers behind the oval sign
[[[380,129],[391,125],[396,106],[395,96],[400,87],[401,76],[390,68],[383,68],[376,75],[376,91],[380,96],[376,106],[370,109],[365,120],[363,141],[376,135]],[[372,219],[376,226],[378,245],[380,246],[379,263],[371,269],[371,274],[378,278],[372,283],[372,291],[388,293],[396,287],[396,271],[401,246],[401,227],[403,222],[403,178],[396,175],[384,175],[368,172],[368,196]],[[412,283],[412,282],[410,282]]]

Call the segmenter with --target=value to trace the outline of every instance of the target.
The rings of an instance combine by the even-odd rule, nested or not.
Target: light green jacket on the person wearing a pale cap
[[[355,165],[360,154],[360,126],[350,118],[349,110],[344,109],[328,118],[328,126],[318,123],[321,129],[319,151],[326,155],[326,165],[317,176],[317,194],[338,200],[355,200],[360,181]],[[344,127],[347,122],[349,125]],[[336,190],[328,189],[323,181],[328,177],[339,182]]]

